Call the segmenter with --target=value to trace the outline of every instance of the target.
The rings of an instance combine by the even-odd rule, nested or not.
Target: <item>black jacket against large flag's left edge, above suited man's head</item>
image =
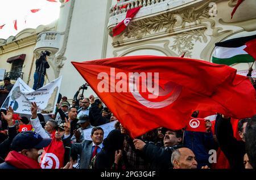
[[[102,117],[101,109],[96,103],[90,105],[89,118],[92,126],[100,126],[110,122],[110,119]]]

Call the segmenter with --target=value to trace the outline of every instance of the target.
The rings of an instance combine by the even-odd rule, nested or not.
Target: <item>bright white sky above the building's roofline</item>
[[[39,25],[47,25],[59,18],[61,3],[47,0],[0,0],[0,39],[7,39],[17,35],[26,28],[36,28]],[[41,10],[32,13],[30,10]],[[18,31],[14,29],[14,20],[17,20]],[[26,23],[25,23],[26,20]]]

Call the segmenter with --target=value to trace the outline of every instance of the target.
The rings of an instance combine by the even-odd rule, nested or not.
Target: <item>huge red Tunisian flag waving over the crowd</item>
[[[133,137],[157,127],[181,129],[195,110],[209,110],[238,119],[256,114],[255,90],[250,80],[226,65],[158,56],[72,64]],[[144,72],[146,79],[131,81],[134,72],[142,76]],[[150,75],[154,82],[150,82]],[[149,87],[159,85],[158,91],[146,88],[148,91],[144,92],[145,82]]]

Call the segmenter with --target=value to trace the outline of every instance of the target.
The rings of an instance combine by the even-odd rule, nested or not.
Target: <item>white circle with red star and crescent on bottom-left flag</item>
[[[59,158],[53,153],[46,153],[41,162],[42,169],[59,169],[60,161]]]

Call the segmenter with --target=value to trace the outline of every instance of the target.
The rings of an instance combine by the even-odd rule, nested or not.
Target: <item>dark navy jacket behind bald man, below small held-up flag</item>
[[[183,144],[195,153],[197,168],[201,169],[205,165],[210,166],[208,152],[210,149],[214,149],[213,135],[211,132],[185,131]]]

